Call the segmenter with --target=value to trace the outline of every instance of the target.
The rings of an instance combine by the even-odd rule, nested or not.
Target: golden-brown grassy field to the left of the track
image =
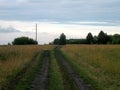
[[[7,84],[37,52],[52,49],[53,46],[0,46],[0,87]]]

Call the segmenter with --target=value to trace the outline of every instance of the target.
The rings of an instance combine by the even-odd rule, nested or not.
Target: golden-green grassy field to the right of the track
[[[120,45],[66,45],[61,51],[93,90],[120,90]]]

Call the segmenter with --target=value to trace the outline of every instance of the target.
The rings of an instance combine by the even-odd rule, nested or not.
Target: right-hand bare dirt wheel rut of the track
[[[78,74],[73,70],[69,63],[65,60],[64,56],[59,52],[59,47],[55,48],[55,58],[59,60],[60,64],[64,67],[68,76],[71,78],[75,84],[77,90],[90,90],[88,85],[84,84],[83,80],[78,76]]]

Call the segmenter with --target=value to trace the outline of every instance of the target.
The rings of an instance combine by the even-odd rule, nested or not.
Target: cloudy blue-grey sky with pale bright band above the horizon
[[[27,36],[46,44],[65,33],[85,38],[103,30],[120,34],[120,0],[0,0],[0,44]]]

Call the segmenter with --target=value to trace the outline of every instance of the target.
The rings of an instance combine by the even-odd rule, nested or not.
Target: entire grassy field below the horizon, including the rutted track
[[[119,51],[120,45],[0,46],[0,90],[120,90]]]

